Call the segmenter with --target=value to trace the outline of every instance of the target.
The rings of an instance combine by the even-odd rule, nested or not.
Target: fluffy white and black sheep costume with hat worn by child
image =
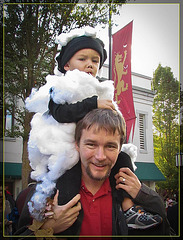
[[[26,108],[35,112],[28,153],[33,170],[31,178],[39,183],[29,202],[29,211],[37,220],[44,218],[47,198],[53,194],[56,180],[79,161],[74,140],[76,122],[99,107],[102,100],[103,108],[119,111],[113,102],[113,81],[99,82],[95,78],[107,58],[104,44],[96,38],[93,29],[82,31],[71,31],[66,38],[65,34],[57,38],[62,49],[56,57],[55,75],[48,75],[46,84],[39,90],[33,89],[26,99]],[[67,69],[70,59],[83,49],[97,52],[99,61],[94,57],[93,66],[88,66],[88,70],[78,68],[79,71],[77,66]],[[122,151],[130,155],[132,162],[135,161],[137,150],[134,145],[124,144]],[[133,166],[135,168],[134,163]],[[120,167],[123,167],[122,162]]]

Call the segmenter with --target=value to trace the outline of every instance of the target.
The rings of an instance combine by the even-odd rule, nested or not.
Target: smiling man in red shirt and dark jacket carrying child
[[[123,154],[124,161],[128,158],[120,152],[124,139],[125,122],[115,111],[95,109],[80,120],[75,132],[80,161],[58,179],[52,212],[48,208],[46,214],[49,218],[39,229],[35,223],[29,229],[39,234],[42,231],[42,235],[64,236],[168,235],[169,224],[159,195],[141,184],[129,168],[114,175],[118,155]],[[128,232],[121,189],[151,212],[155,223],[161,219],[162,222],[152,223],[147,230]],[[126,214],[140,222],[138,211],[137,207]],[[144,213],[141,218],[152,221],[149,214]]]

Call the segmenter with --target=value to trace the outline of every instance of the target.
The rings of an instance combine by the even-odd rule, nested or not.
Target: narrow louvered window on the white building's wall
[[[139,113],[139,136],[140,136],[140,150],[147,150],[146,148],[146,115]]]

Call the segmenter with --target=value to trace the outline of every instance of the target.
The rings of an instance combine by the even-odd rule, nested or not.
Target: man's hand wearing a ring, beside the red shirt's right
[[[120,168],[119,172],[115,175],[116,188],[124,189],[132,198],[136,198],[141,183],[137,176],[129,168]]]

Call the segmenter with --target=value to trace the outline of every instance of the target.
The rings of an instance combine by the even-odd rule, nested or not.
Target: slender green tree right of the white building
[[[178,169],[175,155],[179,149],[179,82],[174,78],[170,67],[160,64],[153,76],[154,159],[166,177],[157,187],[166,191],[178,190]]]

